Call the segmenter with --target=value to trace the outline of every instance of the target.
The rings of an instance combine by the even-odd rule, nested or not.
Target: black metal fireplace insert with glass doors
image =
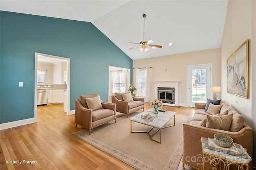
[[[175,103],[175,88],[158,87],[158,99],[163,103],[174,104]]]

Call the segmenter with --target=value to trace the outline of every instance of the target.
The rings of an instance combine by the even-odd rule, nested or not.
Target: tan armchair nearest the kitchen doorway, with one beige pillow
[[[95,127],[113,120],[116,123],[116,104],[102,102],[99,94],[80,96],[75,106],[75,125],[89,129],[89,134]]]

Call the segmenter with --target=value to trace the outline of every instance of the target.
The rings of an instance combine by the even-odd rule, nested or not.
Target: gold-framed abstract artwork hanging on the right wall
[[[248,98],[248,50],[249,40],[228,58],[228,93]]]

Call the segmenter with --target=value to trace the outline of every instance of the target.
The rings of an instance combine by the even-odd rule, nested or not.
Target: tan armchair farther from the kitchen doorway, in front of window
[[[112,103],[116,104],[116,111],[127,115],[134,111],[143,109],[144,98],[133,97],[130,92],[115,93],[112,96]]]

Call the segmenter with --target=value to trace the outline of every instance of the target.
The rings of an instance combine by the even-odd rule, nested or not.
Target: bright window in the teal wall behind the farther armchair
[[[123,71],[115,71],[112,93],[125,92],[125,77]]]

